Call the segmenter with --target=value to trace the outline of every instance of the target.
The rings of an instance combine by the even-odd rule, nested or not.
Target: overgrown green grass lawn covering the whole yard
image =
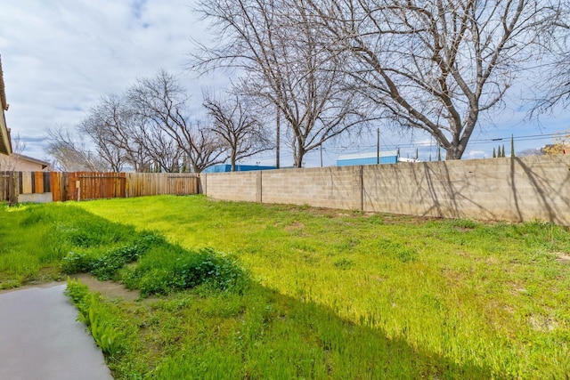
[[[160,295],[77,298],[118,378],[570,375],[548,223],[152,197],[3,208],[0,241],[0,287],[92,271]]]

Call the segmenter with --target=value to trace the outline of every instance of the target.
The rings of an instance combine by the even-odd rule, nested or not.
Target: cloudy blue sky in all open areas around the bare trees
[[[184,69],[191,40],[208,44],[212,36],[205,21],[193,11],[193,0],[19,0],[3,2],[0,10],[0,56],[4,70],[5,113],[12,137],[20,135],[23,154],[49,160],[44,151],[46,128],[71,128],[85,117],[102,95],[120,93],[138,77],[159,69],[179,76],[197,106],[201,89],[220,89],[227,74],[196,77]],[[483,117],[463,158],[491,158],[493,147],[504,144],[509,155],[510,136],[516,151],[540,148],[552,133],[570,127],[570,109],[557,109],[539,121],[527,120],[524,84],[515,85],[505,105]],[[380,149],[401,149],[403,157],[436,158],[436,144],[424,133],[401,135],[384,125],[371,133],[325,143],[324,166],[334,165],[339,154],[375,151],[377,128]],[[497,140],[502,139],[502,140]],[[281,165],[292,164],[288,146],[281,147]],[[271,165],[274,152],[241,164]],[[309,153],[305,166],[320,166],[321,152]]]

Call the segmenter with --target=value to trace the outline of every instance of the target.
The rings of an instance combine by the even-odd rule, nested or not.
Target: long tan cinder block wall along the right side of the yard
[[[208,197],[570,225],[570,156],[202,174]]]

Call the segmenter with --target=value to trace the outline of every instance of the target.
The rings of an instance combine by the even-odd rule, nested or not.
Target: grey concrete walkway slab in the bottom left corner
[[[65,287],[0,294],[0,379],[112,379]]]

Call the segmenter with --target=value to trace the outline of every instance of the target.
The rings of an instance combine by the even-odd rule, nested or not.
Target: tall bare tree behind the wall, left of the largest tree
[[[365,120],[359,97],[346,85],[340,57],[319,42],[302,1],[202,0],[218,47],[201,45],[191,68],[245,71],[242,88],[273,104],[291,131],[294,166]],[[342,55],[342,54],[340,54]]]

